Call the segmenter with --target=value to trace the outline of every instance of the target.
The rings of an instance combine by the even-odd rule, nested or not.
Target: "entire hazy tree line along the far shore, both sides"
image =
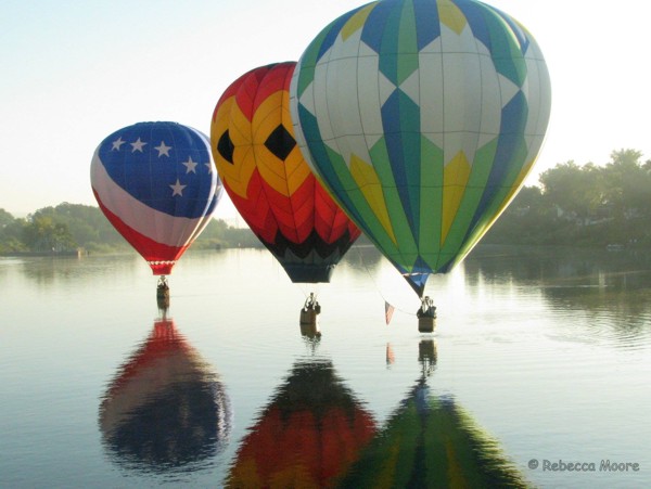
[[[484,236],[510,245],[651,245],[651,160],[613,151],[605,165],[558,164],[525,186]],[[248,229],[213,219],[193,248],[261,246]],[[0,208],[0,253],[130,249],[99,207],[59,204],[26,218]]]

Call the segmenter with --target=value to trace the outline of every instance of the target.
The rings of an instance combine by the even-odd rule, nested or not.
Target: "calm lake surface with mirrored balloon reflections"
[[[0,258],[0,487],[651,487],[651,254],[478,247],[433,334],[370,247],[318,287],[254,249],[155,284]]]

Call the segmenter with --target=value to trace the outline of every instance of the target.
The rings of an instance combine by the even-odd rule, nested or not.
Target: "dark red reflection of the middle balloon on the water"
[[[375,433],[329,360],[297,362],[244,438],[227,487],[329,487]]]

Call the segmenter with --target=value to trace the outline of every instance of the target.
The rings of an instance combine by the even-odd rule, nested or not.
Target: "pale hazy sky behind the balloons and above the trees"
[[[209,133],[224,90],[245,72],[297,61],[356,0],[2,0],[0,208],[24,216],[61,202],[97,205],[97,145],[145,120]],[[651,158],[651,76],[642,0],[490,0],[537,39],[552,114],[535,173]],[[528,183],[536,183],[536,177]],[[222,202],[218,218],[234,215]]]

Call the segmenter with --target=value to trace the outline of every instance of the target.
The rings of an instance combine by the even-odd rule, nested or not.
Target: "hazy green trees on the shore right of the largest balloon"
[[[613,151],[610,162],[573,160],[525,186],[483,242],[571,246],[651,244],[651,160],[636,150]]]

